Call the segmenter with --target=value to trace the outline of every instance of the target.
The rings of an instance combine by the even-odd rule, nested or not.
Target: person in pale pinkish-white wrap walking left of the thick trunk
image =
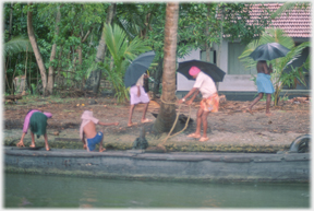
[[[136,124],[132,122],[132,115],[133,115],[135,105],[138,104],[138,103],[145,104],[141,122],[145,124],[145,122],[153,121],[152,119],[147,119],[145,117],[147,108],[148,108],[148,104],[149,104],[149,96],[148,96],[148,94],[145,92],[145,90],[143,87],[144,77],[147,77],[147,75],[145,73],[142,74],[142,77],[140,77],[140,79],[137,80],[136,84],[131,86],[131,89],[130,89],[130,104],[131,104],[131,107],[130,107],[128,127],[136,125]]]

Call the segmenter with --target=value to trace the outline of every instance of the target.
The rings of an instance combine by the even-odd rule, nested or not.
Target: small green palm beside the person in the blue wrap
[[[305,84],[303,68],[309,68],[310,59],[306,59],[306,62],[301,67],[293,68],[291,63],[298,59],[302,50],[306,47],[310,47],[310,42],[305,42],[299,46],[294,46],[294,42],[291,37],[287,36],[285,32],[280,28],[268,28],[266,30],[258,40],[251,42],[239,57],[240,61],[244,63],[246,69],[251,69],[256,66],[256,61],[253,61],[249,55],[254,51],[254,49],[263,44],[267,43],[279,43],[282,46],[290,49],[286,57],[274,59],[269,61],[273,65],[271,81],[275,85],[274,93],[274,104],[278,105],[279,94],[285,85],[290,85],[294,83],[294,79],[298,79],[301,83]],[[291,70],[288,71],[288,68],[291,67]],[[293,82],[292,82],[293,81]]]

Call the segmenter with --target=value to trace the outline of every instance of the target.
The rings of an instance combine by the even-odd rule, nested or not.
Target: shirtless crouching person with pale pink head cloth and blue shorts
[[[105,124],[99,121],[93,116],[93,112],[85,110],[81,117],[82,124],[80,128],[80,137],[84,144],[84,149],[87,149],[88,152],[94,151],[97,143],[99,143],[99,152],[104,152],[106,149],[102,148],[104,131],[96,131],[95,124],[100,126],[118,126],[119,122]]]

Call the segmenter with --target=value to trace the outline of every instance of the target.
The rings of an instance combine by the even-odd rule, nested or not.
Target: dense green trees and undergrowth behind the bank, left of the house
[[[249,8],[247,3],[180,3],[177,56],[183,57],[195,48],[209,49],[214,43],[219,44],[221,33],[228,34],[231,40],[241,37],[243,43],[247,43],[254,35],[261,34],[263,26],[269,22],[261,19],[263,22],[255,24],[256,27],[249,26]],[[119,33],[124,34],[114,36],[123,37],[119,37],[124,39],[123,45],[142,40],[141,45],[146,45],[145,49],[150,48],[156,52],[158,66],[150,70],[150,75],[157,85],[161,81],[166,3],[8,2],[3,11],[5,93],[13,93],[13,79],[26,72],[29,86],[36,87],[29,93],[49,95],[67,89],[93,90],[98,93],[101,77],[111,81],[116,96],[122,99],[125,90],[121,86],[121,80],[126,65],[124,62],[120,66],[119,60],[130,60],[130,56],[119,51],[119,46],[112,49],[113,44],[104,34],[106,24],[112,25],[113,30],[121,28]],[[217,14],[224,14],[225,19],[217,17]],[[239,20],[237,24],[233,24],[234,20]],[[32,37],[27,31],[29,28],[33,28],[31,33],[37,46],[34,49],[38,50],[33,51],[28,44],[26,48],[25,40]],[[16,45],[20,47],[9,48],[13,42],[19,42]],[[142,51],[138,49],[132,52],[133,57]],[[38,60],[43,60],[43,66]],[[95,70],[102,71],[98,71],[100,75],[97,75]],[[112,80],[113,74],[119,74],[114,79],[120,82]],[[90,82],[93,77],[96,84]],[[119,89],[117,83],[120,83]]]

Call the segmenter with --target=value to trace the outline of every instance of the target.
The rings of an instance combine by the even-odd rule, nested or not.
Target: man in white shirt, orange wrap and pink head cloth
[[[197,94],[201,92],[203,99],[201,101],[201,107],[197,110],[196,130],[194,133],[189,134],[190,138],[200,139],[200,141],[207,141],[207,116],[212,113],[217,113],[219,107],[219,96],[215,82],[210,77],[202,72],[197,67],[192,67],[189,74],[196,79],[192,90],[179,101],[179,104],[185,102],[188,97],[193,95],[190,101],[186,102],[191,105]],[[203,124],[203,136],[201,137],[201,124]]]

